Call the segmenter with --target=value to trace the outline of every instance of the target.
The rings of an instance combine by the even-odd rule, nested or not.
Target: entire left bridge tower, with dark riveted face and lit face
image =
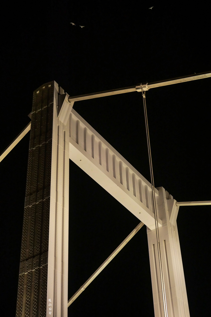
[[[71,108],[64,97],[55,81],[33,95],[17,317],[67,317]]]

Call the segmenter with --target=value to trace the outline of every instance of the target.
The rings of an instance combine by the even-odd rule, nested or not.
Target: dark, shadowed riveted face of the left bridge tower
[[[16,316],[45,316],[54,82],[34,91]]]

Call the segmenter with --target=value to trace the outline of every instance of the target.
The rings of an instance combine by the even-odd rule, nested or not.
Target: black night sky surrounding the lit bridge
[[[28,124],[33,91],[45,82],[75,96],[211,70],[204,5],[31,3],[2,8],[0,152]],[[210,84],[146,92],[155,186],[177,201],[211,199]],[[80,101],[74,109],[150,181],[141,94]],[[0,163],[2,316],[16,312],[28,144],[29,133]],[[69,209],[68,298],[140,222],[71,161]],[[180,207],[177,217],[192,317],[210,311],[210,212]],[[73,317],[131,314],[154,315],[146,226],[68,308]]]

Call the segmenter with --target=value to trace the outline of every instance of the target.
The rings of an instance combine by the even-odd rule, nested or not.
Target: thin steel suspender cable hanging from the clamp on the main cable
[[[157,247],[158,247],[158,259],[159,259],[159,268],[160,268],[164,316],[168,317],[165,284],[164,284],[164,273],[163,273],[163,265],[161,260],[160,239],[159,239],[159,232],[158,232],[158,213],[157,213],[157,207],[156,207],[156,201],[155,201],[155,185],[154,185],[154,177],[153,177],[153,170],[152,170],[152,155],[151,155],[150,139],[149,139],[149,127],[148,127],[147,112],[146,112],[146,96],[144,94],[145,92],[143,93],[142,87],[141,87],[141,92],[142,92],[143,106],[144,106],[147,148],[148,148],[149,165],[150,165],[150,177],[151,177],[151,184],[152,184],[152,200],[153,200],[154,213],[155,213],[155,229],[156,229],[156,238],[157,238]]]

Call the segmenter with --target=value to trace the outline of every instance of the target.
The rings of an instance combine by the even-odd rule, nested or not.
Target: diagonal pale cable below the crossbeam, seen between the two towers
[[[78,291],[69,299],[68,307],[72,304],[73,301],[84,291],[85,288],[96,278],[98,274],[113,260],[113,258],[120,252],[121,249],[127,244],[130,239],[143,227],[144,223],[139,223],[138,226],[125,238],[124,241],[111,253],[111,255],[101,264],[101,266],[93,273],[90,278],[78,289]]]

